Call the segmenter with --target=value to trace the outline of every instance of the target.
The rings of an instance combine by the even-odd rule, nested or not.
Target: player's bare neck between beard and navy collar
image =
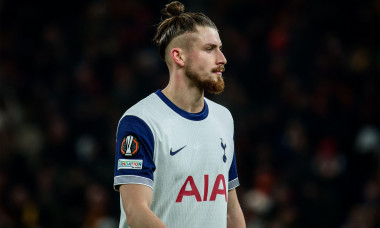
[[[189,113],[201,112],[204,108],[204,91],[192,85],[189,80],[170,77],[169,84],[162,93],[180,109]]]

